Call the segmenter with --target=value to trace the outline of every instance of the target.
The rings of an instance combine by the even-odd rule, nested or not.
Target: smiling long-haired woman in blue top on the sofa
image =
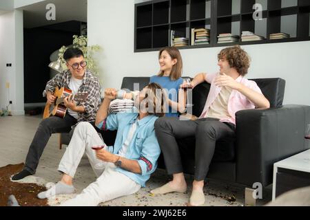
[[[149,79],[149,83],[158,83],[167,91],[169,107],[166,117],[178,117],[178,113],[185,111],[186,92],[180,89],[183,84],[183,62],[179,50],[176,47],[163,47],[158,53],[158,62],[161,67],[156,76]],[[124,98],[132,99],[133,93],[127,93]]]

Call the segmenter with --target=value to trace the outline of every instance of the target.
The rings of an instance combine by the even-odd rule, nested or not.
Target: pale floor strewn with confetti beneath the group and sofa
[[[12,116],[0,117],[0,166],[7,164],[19,164],[24,162],[28,152],[29,144],[41,118],[39,116]],[[36,177],[39,181],[56,182],[59,180],[59,173],[56,168],[65,148],[59,150],[58,135],[52,135],[48,146],[41,157]],[[169,181],[169,176],[165,170],[156,170],[147,186],[134,195],[114,199],[101,203],[102,206],[187,206],[189,200],[190,184],[192,176],[187,175],[189,191],[185,193],[169,193],[167,195],[152,196],[149,190],[162,186]],[[31,177],[28,181],[35,181]],[[76,173],[74,186],[77,192],[81,192],[88,184],[95,180],[95,175],[90,168],[87,157],[83,157]],[[225,183],[214,179],[207,180],[205,184],[206,202],[204,206],[242,206],[244,202],[245,186],[239,184]],[[74,196],[74,195],[73,195]],[[50,200],[50,205],[54,206],[68,196],[59,196]],[[236,199],[236,201],[234,201]],[[263,199],[258,201],[258,206],[262,206],[271,200],[271,186],[265,188]]]

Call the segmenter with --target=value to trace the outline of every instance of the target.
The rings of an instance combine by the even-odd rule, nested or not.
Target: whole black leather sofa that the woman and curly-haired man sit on
[[[236,182],[252,187],[272,183],[273,163],[300,153],[310,146],[304,139],[304,129],[310,123],[310,107],[300,104],[282,105],[285,80],[259,78],[256,81],[270,102],[270,109],[249,109],[236,113],[236,140],[219,140],[207,177]],[[143,89],[149,77],[124,77],[122,89]],[[196,86],[193,91],[193,114],[199,116],[205,106],[209,83]],[[114,144],[115,131],[103,133],[106,143]],[[65,134],[63,134],[65,135]],[[177,140],[185,173],[194,174],[194,137]],[[63,144],[68,144],[65,140]],[[158,168],[165,168],[163,155]]]

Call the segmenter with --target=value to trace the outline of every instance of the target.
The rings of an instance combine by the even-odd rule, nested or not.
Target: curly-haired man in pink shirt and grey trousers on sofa
[[[187,190],[176,138],[195,136],[195,173],[189,204],[200,206],[205,203],[204,179],[214,155],[216,140],[223,137],[234,138],[237,111],[270,106],[258,85],[244,78],[249,63],[247,52],[240,46],[221,50],[218,54],[220,71],[216,74],[198,74],[191,82],[192,87],[204,81],[211,84],[200,117],[197,120],[165,117],[156,120],[156,137],[165,158],[167,173],[173,175],[173,179],[164,186],[152,190],[152,193],[164,194]]]

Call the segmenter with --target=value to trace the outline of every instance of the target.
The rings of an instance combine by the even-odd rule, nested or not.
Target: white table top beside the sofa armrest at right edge
[[[310,173],[310,149],[273,164],[278,168],[287,168]]]

